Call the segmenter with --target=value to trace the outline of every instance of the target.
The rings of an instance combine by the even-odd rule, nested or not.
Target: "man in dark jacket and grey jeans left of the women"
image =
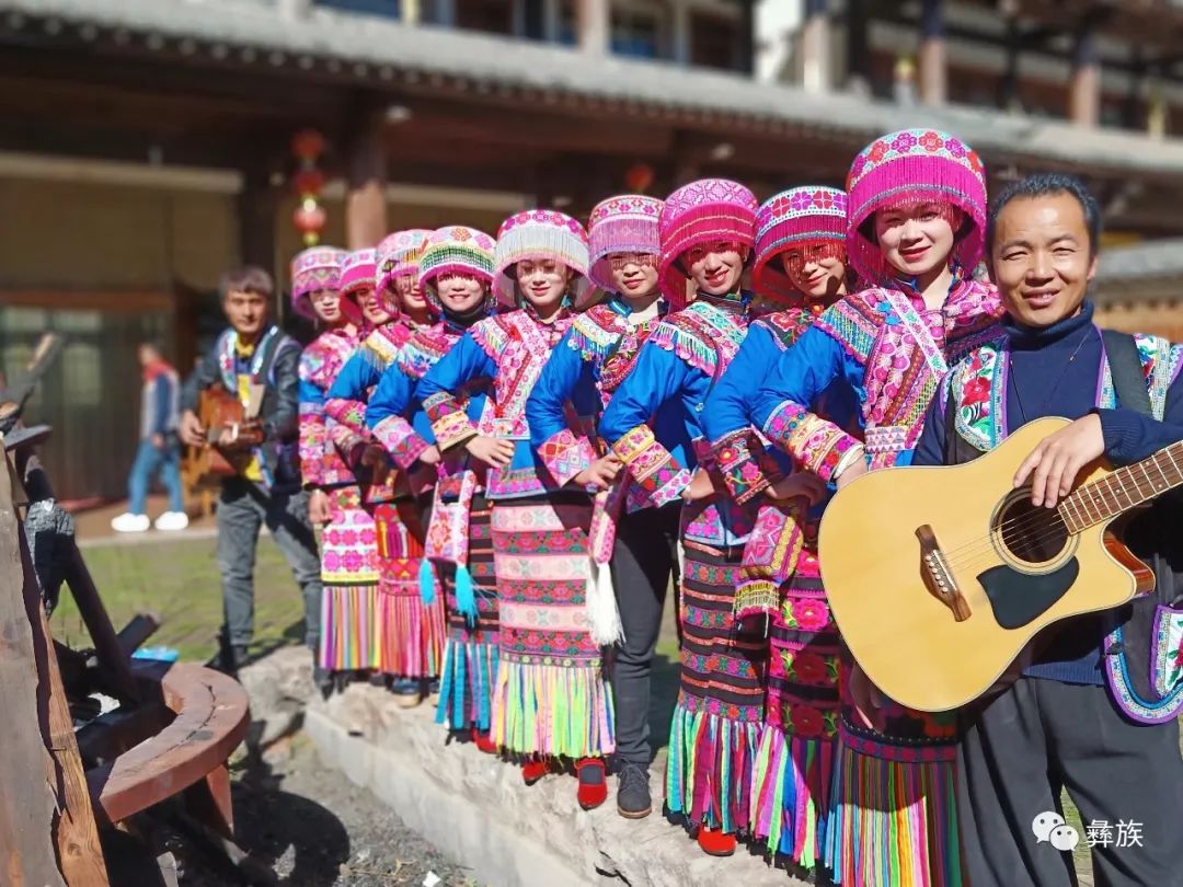
[[[319,639],[321,561],[296,452],[300,348],[271,323],[273,287],[265,271],[230,272],[220,292],[231,328],[185,383],[180,436],[190,446],[205,442],[196,409],[206,388],[221,386],[244,404],[261,391],[258,421],[235,429],[234,436],[222,432],[216,441],[221,449],[243,457],[243,467],[222,481],[218,499],[222,666],[234,671],[245,661],[254,632],[254,550],[260,527],[266,524],[296,575],[304,596],[304,641],[313,650]]]

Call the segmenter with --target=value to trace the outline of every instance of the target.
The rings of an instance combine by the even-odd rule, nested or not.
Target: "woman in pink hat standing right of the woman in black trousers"
[[[658,503],[681,496],[696,464],[711,466],[703,432],[706,397],[748,331],[751,293],[741,277],[756,239],[756,198],[737,182],[705,179],[679,188],[661,211],[661,290],[671,315],[605,409],[600,435]],[[694,300],[686,307],[687,289]],[[684,459],[654,434],[666,404],[692,441]],[[731,617],[751,513],[730,500],[683,507],[681,692],[666,769],[666,804],[685,816],[711,854],[735,852],[750,826],[749,783],[759,740],[767,643]]]

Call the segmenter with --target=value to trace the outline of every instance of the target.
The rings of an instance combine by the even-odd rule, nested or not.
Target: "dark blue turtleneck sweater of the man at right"
[[[1139,461],[1183,440],[1183,384],[1178,380],[1168,391],[1162,422],[1133,409],[1097,408],[1104,348],[1100,331],[1093,326],[1092,303],[1084,303],[1075,317],[1042,330],[1020,326],[1009,317],[1003,318],[1002,326],[1010,337],[1009,430],[1043,416],[1080,419],[1095,412],[1101,420],[1105,455],[1114,465]],[[935,397],[929,407],[913,465],[945,462],[942,401]],[[1047,633],[1047,643],[1023,674],[1066,684],[1104,684],[1100,646],[1105,624],[1099,614],[1065,620]]]

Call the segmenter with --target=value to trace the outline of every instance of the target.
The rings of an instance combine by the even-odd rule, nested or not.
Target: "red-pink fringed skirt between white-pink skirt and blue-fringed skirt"
[[[377,527],[379,594],[373,646],[377,668],[400,678],[434,678],[444,658],[444,604],[419,594],[424,525],[414,499],[374,509]]]

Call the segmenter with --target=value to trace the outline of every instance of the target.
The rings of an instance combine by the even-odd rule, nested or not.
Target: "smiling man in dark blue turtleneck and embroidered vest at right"
[[[1086,294],[1099,227],[1095,200],[1072,176],[1033,176],[996,199],[987,252],[1007,315],[991,342],[950,370],[914,465],[968,462],[1028,422],[1065,416],[1075,421],[1045,438],[1014,477],[1016,490],[1030,485],[1036,510],[1055,509],[1103,457],[1130,465],[1183,440],[1183,349],[1150,336],[1103,336],[1093,324]],[[1155,642],[1179,622],[1170,604],[1183,585],[1168,564],[1183,563],[1181,514],[1168,494],[1124,533],[1155,568],[1156,593],[1040,632],[1009,682],[961,710],[957,805],[975,887],[1075,883],[1071,854],[1032,834],[1037,817],[1060,811],[1061,788],[1086,826],[1140,827],[1136,846],[1095,843],[1099,887],[1183,882],[1183,697],[1148,674],[1156,655],[1174,665],[1177,654]]]

